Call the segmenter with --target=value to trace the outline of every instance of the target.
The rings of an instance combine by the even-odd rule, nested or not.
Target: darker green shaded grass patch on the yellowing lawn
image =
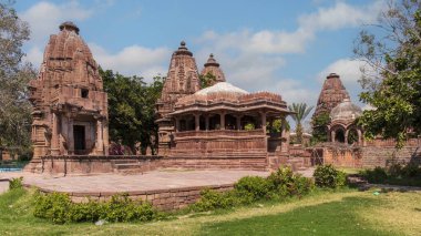
[[[207,224],[203,235],[392,235],[360,219],[357,212],[379,201],[346,197],[340,202],[299,207],[291,212]]]

